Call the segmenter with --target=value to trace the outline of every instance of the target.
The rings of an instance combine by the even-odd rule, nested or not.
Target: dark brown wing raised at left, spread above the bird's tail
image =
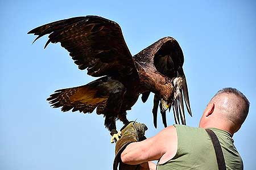
[[[59,20],[32,29],[40,37],[49,34],[49,42],[60,42],[79,69],[89,75],[138,75],[133,57],[119,25],[100,16],[81,16]]]

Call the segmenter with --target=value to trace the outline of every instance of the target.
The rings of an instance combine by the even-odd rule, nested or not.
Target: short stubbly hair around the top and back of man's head
[[[242,99],[245,102],[245,105],[243,107],[243,113],[241,113],[239,115],[239,119],[237,121],[239,121],[238,123],[242,124],[245,121],[245,118],[247,117],[247,114],[249,112],[249,107],[250,107],[250,102],[247,99],[247,97],[245,95],[242,94],[241,91],[237,90],[236,88],[232,88],[232,87],[226,87],[226,88],[222,88],[221,90],[219,90],[210,100],[213,101],[218,95],[220,94],[234,94],[236,95],[238,98]]]

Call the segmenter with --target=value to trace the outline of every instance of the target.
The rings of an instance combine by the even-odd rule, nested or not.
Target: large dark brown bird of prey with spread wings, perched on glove
[[[178,42],[164,37],[131,56],[123,38],[121,27],[100,16],[81,16],[59,20],[32,29],[28,33],[40,37],[49,34],[49,42],[60,42],[80,70],[100,77],[84,86],[55,91],[47,99],[53,108],[61,111],[80,111],[104,114],[105,126],[118,139],[115,121],[129,121],[126,111],[136,103],[140,94],[146,102],[150,92],[154,95],[152,109],[154,125],[158,107],[166,127],[166,111],[174,110],[175,123],[185,124],[184,106],[192,116],[188,88],[183,72],[184,57]],[[180,117],[180,118],[179,118]]]

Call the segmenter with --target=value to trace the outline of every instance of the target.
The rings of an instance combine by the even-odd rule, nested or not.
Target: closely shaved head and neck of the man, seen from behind
[[[200,121],[200,126],[240,129],[249,112],[249,100],[236,88],[223,88],[212,97]],[[209,128],[209,127],[208,127]]]

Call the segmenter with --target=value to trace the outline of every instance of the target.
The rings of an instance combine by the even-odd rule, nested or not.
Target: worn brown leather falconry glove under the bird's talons
[[[125,150],[126,146],[133,142],[139,142],[146,139],[144,136],[147,126],[138,122],[130,122],[123,126],[121,129],[122,137],[115,144],[115,159],[113,163],[113,169],[117,170],[119,164],[119,170],[139,170],[140,165],[129,165],[122,163],[121,153]]]

